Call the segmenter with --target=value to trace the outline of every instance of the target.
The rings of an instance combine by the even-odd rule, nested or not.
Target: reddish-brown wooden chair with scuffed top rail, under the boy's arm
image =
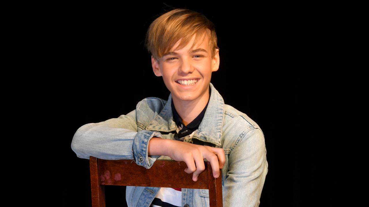
[[[93,207],[105,207],[105,185],[151,186],[209,189],[211,207],[223,207],[222,176],[215,179],[210,162],[196,182],[192,173],[184,172],[185,162],[159,160],[150,169],[135,163],[133,159],[107,160],[90,156],[91,196]],[[137,179],[139,178],[139,179]]]

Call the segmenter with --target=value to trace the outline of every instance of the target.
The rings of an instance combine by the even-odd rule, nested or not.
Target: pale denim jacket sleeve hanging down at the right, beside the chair
[[[225,206],[255,207],[268,173],[263,132],[254,128],[244,132],[228,157],[229,169],[223,186]]]

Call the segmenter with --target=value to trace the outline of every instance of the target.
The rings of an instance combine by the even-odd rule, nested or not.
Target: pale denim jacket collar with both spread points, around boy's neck
[[[221,131],[223,126],[224,101],[213,84],[210,83],[211,95],[208,106],[199,129],[194,133],[193,138],[210,142],[220,146]],[[173,119],[172,93],[169,94],[168,101],[163,110],[146,127],[146,130],[155,131],[176,131],[177,125]]]

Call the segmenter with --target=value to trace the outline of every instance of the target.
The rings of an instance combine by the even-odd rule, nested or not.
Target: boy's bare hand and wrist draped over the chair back
[[[184,169],[184,172],[193,173],[193,181],[197,181],[199,174],[204,171],[204,159],[210,162],[214,178],[219,177],[219,169],[223,168],[225,162],[223,148],[191,144],[176,140],[166,141],[168,141],[165,145],[167,149],[166,155],[175,161],[185,162],[187,168]]]

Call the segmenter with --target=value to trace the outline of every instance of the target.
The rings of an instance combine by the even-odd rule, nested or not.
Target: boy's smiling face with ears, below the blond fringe
[[[152,68],[156,76],[163,76],[164,83],[172,93],[174,102],[177,101],[208,101],[211,73],[219,68],[219,49],[211,58],[209,39],[206,34],[204,40],[191,49],[195,36],[180,50],[170,50],[169,55],[163,55],[159,62],[151,56]],[[176,48],[180,40],[172,47]],[[205,51],[197,51],[204,49]],[[193,51],[195,50],[195,51]],[[187,80],[187,83],[186,81]]]

